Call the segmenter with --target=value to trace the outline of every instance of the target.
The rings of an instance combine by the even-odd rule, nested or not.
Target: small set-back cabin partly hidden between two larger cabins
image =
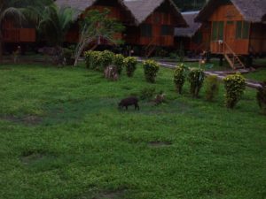
[[[189,27],[175,28],[176,49],[183,48],[185,52],[200,54],[202,51],[209,50],[210,24],[198,23],[194,19],[200,11],[186,11],[182,15]]]

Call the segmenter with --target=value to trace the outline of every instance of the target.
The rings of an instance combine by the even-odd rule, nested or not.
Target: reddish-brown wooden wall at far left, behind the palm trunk
[[[18,28],[12,21],[4,21],[4,42],[35,42],[35,28]]]

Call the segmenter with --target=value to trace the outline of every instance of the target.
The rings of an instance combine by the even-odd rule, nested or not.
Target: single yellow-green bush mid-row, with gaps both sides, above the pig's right
[[[148,82],[154,83],[156,74],[160,70],[160,65],[153,60],[146,60],[143,64],[143,67],[145,71],[145,79]]]

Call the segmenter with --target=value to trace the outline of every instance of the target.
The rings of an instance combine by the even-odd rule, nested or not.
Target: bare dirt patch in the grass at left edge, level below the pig
[[[38,117],[38,116],[34,116],[34,115],[27,115],[24,117],[16,117],[16,116],[0,116],[0,119],[2,120],[8,120],[8,121],[12,121],[15,123],[22,123],[24,125],[28,125],[28,126],[35,126],[35,125],[39,125],[42,122],[42,118]]]

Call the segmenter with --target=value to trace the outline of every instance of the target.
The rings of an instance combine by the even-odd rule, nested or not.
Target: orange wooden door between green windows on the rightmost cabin
[[[227,21],[226,22],[226,26],[225,26],[225,38],[224,38],[224,42],[225,43],[225,48],[224,48],[224,52],[225,53],[231,53],[231,50],[235,49],[235,22],[234,21]],[[231,50],[229,50],[229,48],[231,48]]]

